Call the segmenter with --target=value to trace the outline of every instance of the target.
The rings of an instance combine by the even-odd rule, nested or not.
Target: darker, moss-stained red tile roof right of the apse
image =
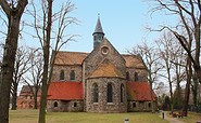
[[[127,96],[129,100],[151,100],[150,86],[148,82],[127,82]],[[153,92],[153,100],[156,95]]]

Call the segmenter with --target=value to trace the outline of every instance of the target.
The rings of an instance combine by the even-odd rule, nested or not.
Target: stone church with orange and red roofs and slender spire
[[[120,54],[98,17],[90,53],[58,52],[47,111],[151,111],[148,71],[138,55]],[[154,107],[156,96],[153,93]]]

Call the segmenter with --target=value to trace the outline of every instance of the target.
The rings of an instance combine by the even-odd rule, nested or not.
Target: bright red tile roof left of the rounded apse
[[[47,99],[83,99],[81,82],[51,82]]]

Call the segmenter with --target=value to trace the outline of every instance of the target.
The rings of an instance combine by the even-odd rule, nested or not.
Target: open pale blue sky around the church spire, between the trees
[[[79,35],[75,42],[70,42],[63,51],[91,52],[93,47],[92,32],[95,31],[98,14],[105,38],[120,53],[127,53],[142,41],[153,42],[159,32],[149,32],[146,27],[155,27],[164,18],[150,15],[150,3],[145,0],[72,0],[76,10],[72,12],[79,24],[68,32]]]

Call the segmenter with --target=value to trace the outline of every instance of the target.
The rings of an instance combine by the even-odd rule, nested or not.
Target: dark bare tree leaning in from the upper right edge
[[[200,64],[200,26],[201,26],[201,3],[200,0],[153,0],[155,5],[151,12],[165,11],[171,15],[180,18],[180,24],[175,28],[163,26],[171,30],[181,46],[188,54],[192,63],[197,78],[201,83],[201,64]],[[179,33],[180,28],[185,33]],[[193,44],[193,45],[192,45]]]

